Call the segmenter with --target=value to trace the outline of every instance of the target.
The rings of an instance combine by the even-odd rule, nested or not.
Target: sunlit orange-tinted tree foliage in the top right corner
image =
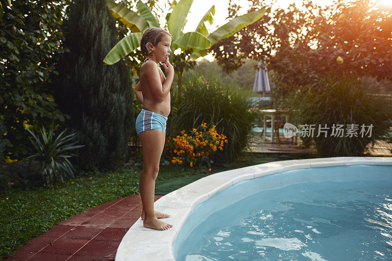
[[[239,11],[232,2],[229,17]],[[211,48],[227,72],[241,65],[239,58],[268,57],[269,69],[291,88],[331,71],[392,80],[392,8],[370,0],[335,0],[324,8],[308,1],[286,10],[272,9],[265,0],[251,2],[250,10],[265,8],[266,15]]]

